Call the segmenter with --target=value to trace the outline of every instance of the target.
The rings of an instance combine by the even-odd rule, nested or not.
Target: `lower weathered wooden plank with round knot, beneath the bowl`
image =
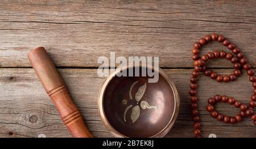
[[[188,95],[191,69],[166,69],[180,92],[181,109],[178,121],[166,137],[193,137]],[[216,69],[228,74],[231,69]],[[96,69],[59,69],[72,99],[80,109],[85,123],[94,137],[113,137],[101,122],[97,97],[105,78],[97,76]],[[236,82],[217,83],[206,76],[199,78],[199,111],[203,137],[256,137],[256,127],[249,118],[236,125],[224,124],[210,117],[205,110],[207,99],[216,94],[233,96],[248,103],[251,83],[243,74]],[[0,69],[0,137],[71,137],[59,113],[47,96],[33,69]],[[233,116],[238,109],[218,104],[217,110]]]

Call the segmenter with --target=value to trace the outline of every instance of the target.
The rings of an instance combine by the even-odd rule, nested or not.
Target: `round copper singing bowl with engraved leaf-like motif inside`
[[[116,69],[100,90],[98,110],[104,125],[114,137],[163,137],[179,113],[175,84],[162,69],[156,83],[148,83],[148,75],[117,76],[125,69],[135,67]]]

